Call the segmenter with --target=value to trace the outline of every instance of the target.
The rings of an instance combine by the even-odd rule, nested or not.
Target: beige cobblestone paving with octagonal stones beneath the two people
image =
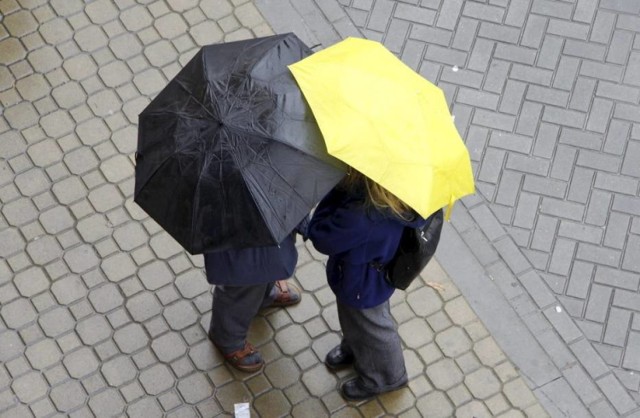
[[[212,348],[201,257],[132,203],[136,123],[199,45],[272,33],[254,3],[0,0],[0,16],[1,417],[547,416],[437,262],[392,299],[400,391],[341,399],[350,372],[322,364],[334,298],[302,244],[302,303],[251,329],[264,371]]]

